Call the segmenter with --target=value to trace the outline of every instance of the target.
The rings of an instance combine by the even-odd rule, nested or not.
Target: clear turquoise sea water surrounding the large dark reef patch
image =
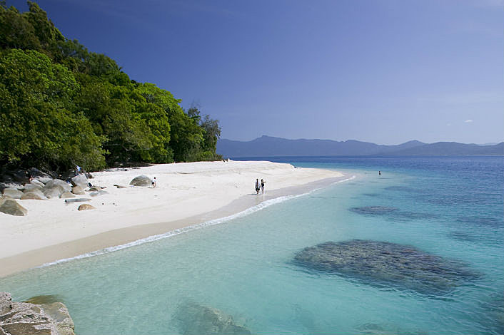
[[[179,334],[173,315],[186,301],[254,334],[503,334],[503,157],[276,160],[356,178],[220,225],[6,277],[0,291],[57,295],[81,335]],[[383,207],[393,210],[373,210]],[[293,262],[305,247],[351,239],[405,244],[475,276],[429,293]]]

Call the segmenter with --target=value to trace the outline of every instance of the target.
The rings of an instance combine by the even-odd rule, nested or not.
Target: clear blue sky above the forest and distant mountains
[[[504,140],[504,0],[37,2],[222,138]]]

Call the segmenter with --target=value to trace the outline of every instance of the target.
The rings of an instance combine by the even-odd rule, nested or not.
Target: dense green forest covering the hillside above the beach
[[[218,160],[218,120],[0,1],[0,166],[87,170]]]

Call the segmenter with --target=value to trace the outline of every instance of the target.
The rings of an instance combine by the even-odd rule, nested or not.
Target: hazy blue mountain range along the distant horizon
[[[504,155],[504,142],[495,145],[478,145],[456,142],[423,143],[410,140],[399,145],[378,145],[358,140],[288,140],[263,135],[246,142],[218,140],[216,151],[226,158],[324,155]]]

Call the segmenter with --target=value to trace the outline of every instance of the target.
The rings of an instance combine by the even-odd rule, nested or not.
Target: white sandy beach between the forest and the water
[[[138,175],[156,177],[156,188],[132,187]],[[256,195],[256,178],[266,180]],[[0,277],[56,259],[75,257],[119,244],[226,217],[263,201],[297,195],[343,180],[334,170],[294,168],[271,162],[198,162],[153,165],[94,173],[93,185],[106,195],[83,202],[19,200],[29,215],[0,212]],[[116,188],[114,184],[128,186]]]

